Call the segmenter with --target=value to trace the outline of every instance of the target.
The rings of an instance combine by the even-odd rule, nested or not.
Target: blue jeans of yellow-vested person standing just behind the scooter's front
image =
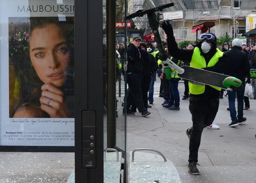
[[[169,105],[174,105],[175,107],[180,106],[180,93],[178,90],[179,81],[168,81],[169,83],[169,92],[170,92],[170,99]]]

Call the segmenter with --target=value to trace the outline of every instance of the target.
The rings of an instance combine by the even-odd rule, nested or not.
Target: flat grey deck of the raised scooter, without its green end
[[[178,74],[179,77],[193,81],[195,84],[203,84],[203,85],[211,85],[216,86],[222,89],[227,89],[223,86],[223,81],[225,78],[229,77],[228,75],[206,71],[203,69],[197,69],[195,67],[190,66],[182,66],[184,72],[182,74]]]

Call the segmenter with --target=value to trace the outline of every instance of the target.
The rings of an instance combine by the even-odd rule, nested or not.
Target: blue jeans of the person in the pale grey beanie
[[[230,117],[231,120],[236,119],[243,119],[243,95],[244,95],[244,88],[245,83],[243,82],[243,90],[242,91],[229,91],[228,90],[228,96],[229,96],[229,111],[230,111]],[[235,100],[237,98],[237,117],[236,117],[236,107],[235,107]]]

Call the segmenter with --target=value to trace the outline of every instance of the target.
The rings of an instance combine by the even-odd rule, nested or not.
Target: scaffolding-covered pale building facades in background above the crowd
[[[143,9],[170,2],[175,4],[172,11],[183,11],[184,15],[182,20],[172,21],[177,42],[195,40],[192,26],[208,20],[216,22],[211,32],[217,37],[225,33],[237,37],[245,32],[246,17],[256,9],[256,0],[145,0]],[[185,22],[189,26],[185,26]],[[145,29],[147,32],[150,28],[147,26]]]

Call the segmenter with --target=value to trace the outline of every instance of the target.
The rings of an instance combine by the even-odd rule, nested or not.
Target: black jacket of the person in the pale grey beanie
[[[234,76],[244,82],[244,78],[250,72],[250,64],[246,53],[242,52],[241,47],[233,46],[232,49],[225,52],[225,54],[229,57],[231,66],[228,67],[224,74]]]

